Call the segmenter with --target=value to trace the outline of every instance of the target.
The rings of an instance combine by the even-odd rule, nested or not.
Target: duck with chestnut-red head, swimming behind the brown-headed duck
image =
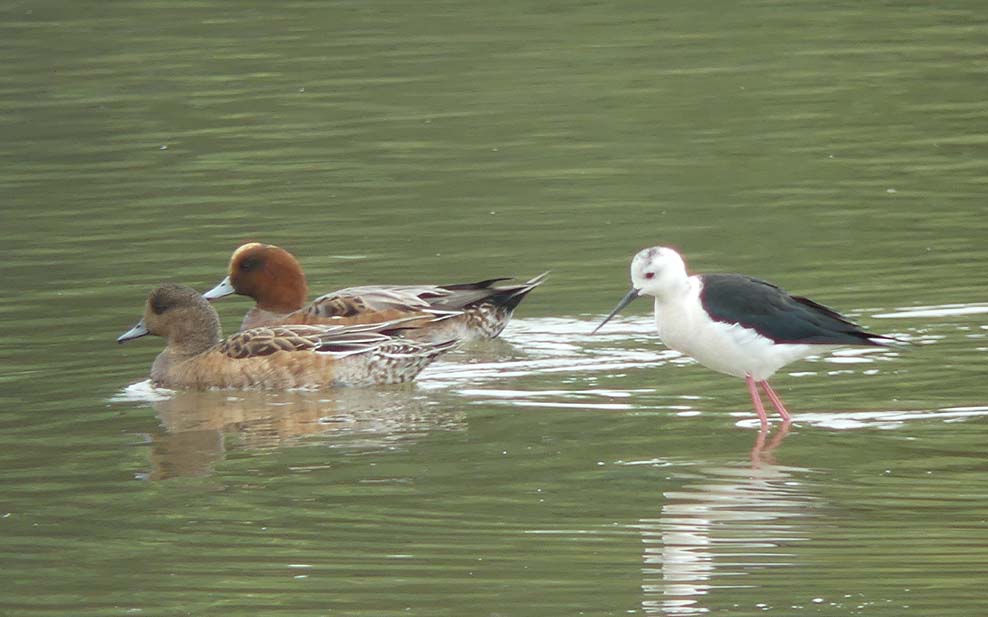
[[[295,256],[283,248],[251,242],[233,252],[229,275],[207,291],[207,300],[250,296],[242,329],[276,324],[358,324],[422,317],[404,336],[417,340],[490,339],[511,319],[525,294],[548,276],[520,285],[498,278],[458,285],[349,287],[306,304],[308,286]]]

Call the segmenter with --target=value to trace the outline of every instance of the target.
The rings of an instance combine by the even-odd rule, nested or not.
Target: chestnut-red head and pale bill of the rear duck
[[[250,296],[265,311],[290,313],[302,308],[309,289],[294,255],[273,244],[250,242],[233,252],[228,276],[203,297],[231,294]]]

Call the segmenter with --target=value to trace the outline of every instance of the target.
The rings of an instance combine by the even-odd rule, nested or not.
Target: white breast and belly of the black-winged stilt
[[[700,303],[702,285],[698,277],[691,276],[684,294],[655,298],[659,338],[700,364],[735,377],[750,374],[761,381],[790,362],[827,349],[821,345],[775,343],[751,328],[712,320]]]

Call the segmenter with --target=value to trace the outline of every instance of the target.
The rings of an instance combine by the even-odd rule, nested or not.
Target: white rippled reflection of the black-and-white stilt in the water
[[[774,460],[788,431],[789,423],[760,431],[750,464],[691,468],[702,477],[665,492],[658,518],[641,519],[644,612],[710,612],[705,600],[717,589],[743,587],[738,576],[786,565],[784,547],[807,539],[800,523],[815,500],[793,479],[807,470]],[[717,583],[722,577],[732,580]]]

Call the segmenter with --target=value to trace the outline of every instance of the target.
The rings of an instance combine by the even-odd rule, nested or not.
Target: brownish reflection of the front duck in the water
[[[359,435],[382,447],[434,429],[456,429],[458,414],[429,403],[414,386],[322,392],[175,392],[152,402],[161,430],[150,435],[151,469],[161,480],[203,476],[230,444],[245,449],[291,445],[312,435]]]

